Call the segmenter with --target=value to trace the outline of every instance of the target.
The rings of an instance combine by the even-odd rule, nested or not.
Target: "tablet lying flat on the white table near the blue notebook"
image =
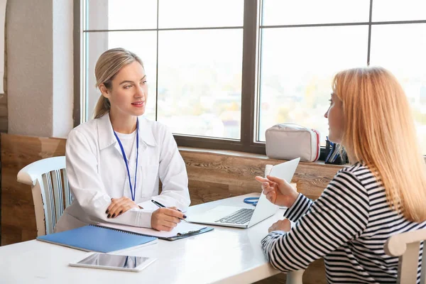
[[[81,261],[70,263],[70,266],[112,269],[118,271],[138,272],[153,263],[156,258],[142,256],[118,256],[109,253],[90,253]]]

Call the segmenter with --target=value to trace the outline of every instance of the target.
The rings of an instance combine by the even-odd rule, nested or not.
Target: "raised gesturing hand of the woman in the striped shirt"
[[[262,183],[263,194],[271,203],[278,206],[291,207],[297,200],[299,193],[290,183],[280,178],[267,175],[267,178],[257,176],[256,180]]]

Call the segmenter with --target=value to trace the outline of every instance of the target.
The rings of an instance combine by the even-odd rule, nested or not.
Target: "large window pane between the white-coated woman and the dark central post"
[[[242,35],[159,32],[158,121],[173,133],[240,138]]]

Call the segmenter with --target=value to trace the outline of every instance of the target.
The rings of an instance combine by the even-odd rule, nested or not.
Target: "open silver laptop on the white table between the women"
[[[299,160],[300,158],[295,158],[294,160],[274,165],[269,175],[290,182],[295,174]],[[277,210],[278,206],[269,202],[266,196],[261,193],[256,207],[246,208],[219,205],[202,214],[188,216],[187,221],[200,224],[249,228],[271,217]]]

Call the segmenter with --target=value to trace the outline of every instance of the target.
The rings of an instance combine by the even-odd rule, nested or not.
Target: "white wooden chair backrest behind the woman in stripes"
[[[391,236],[384,249],[388,256],[399,256],[397,283],[416,283],[420,243],[426,240],[426,229]],[[420,283],[426,284],[426,246],[423,246]]]

